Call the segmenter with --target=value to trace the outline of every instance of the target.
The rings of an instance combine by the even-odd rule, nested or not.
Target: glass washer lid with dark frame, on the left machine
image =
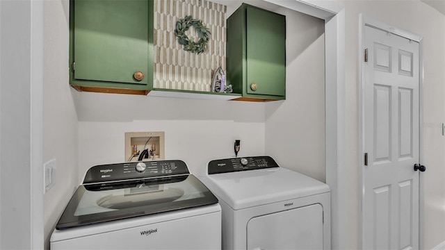
[[[218,203],[192,174],[80,185],[56,229]]]

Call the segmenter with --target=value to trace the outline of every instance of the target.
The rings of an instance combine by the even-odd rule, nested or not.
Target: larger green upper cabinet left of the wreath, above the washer
[[[153,1],[70,1],[70,84],[77,90],[147,94],[152,51]]]

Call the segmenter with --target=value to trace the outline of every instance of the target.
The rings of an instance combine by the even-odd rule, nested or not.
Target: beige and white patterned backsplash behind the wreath
[[[225,70],[226,11],[226,6],[206,0],[154,1],[154,88],[210,91],[212,71]],[[206,52],[184,51],[177,42],[175,25],[186,15],[209,28]],[[186,35],[197,38],[193,27]]]

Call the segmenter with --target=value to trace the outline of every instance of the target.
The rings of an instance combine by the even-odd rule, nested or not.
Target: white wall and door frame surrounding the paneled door
[[[359,13],[421,35],[424,39],[424,124],[425,162],[425,248],[431,249],[445,241],[445,137],[438,124],[445,122],[445,18],[421,1],[343,1],[346,13],[346,180],[339,190],[346,190],[347,204],[341,213],[344,225],[344,246],[359,249],[360,188],[358,134],[358,45]],[[328,124],[327,124],[328,125]]]

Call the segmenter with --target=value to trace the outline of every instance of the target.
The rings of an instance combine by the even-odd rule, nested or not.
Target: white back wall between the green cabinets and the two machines
[[[165,132],[165,158],[184,160],[193,174],[209,160],[264,153],[264,103],[76,93],[79,182],[89,167],[120,163],[124,133]]]

